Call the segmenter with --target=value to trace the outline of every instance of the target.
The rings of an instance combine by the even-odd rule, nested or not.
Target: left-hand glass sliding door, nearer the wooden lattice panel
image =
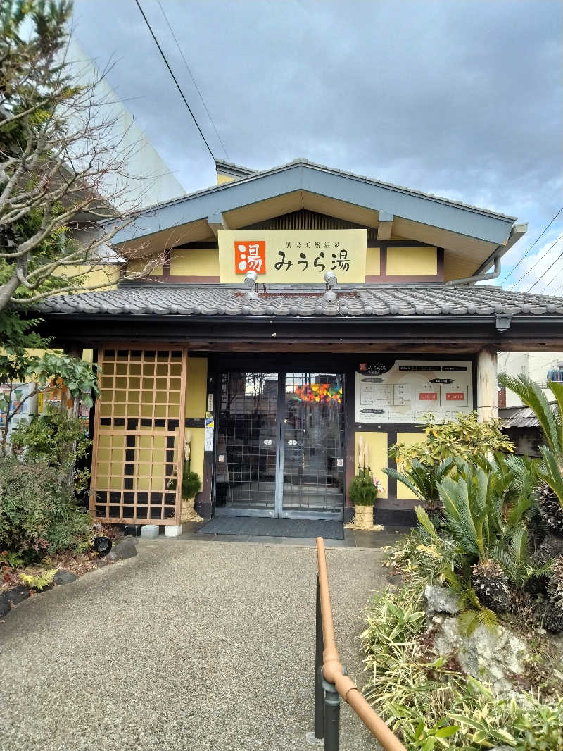
[[[215,446],[216,513],[274,515],[277,423],[277,373],[221,373]]]

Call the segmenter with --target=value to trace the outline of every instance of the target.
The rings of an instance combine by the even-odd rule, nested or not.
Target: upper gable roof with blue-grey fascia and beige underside
[[[515,222],[495,211],[297,159],[149,207],[116,233],[113,245],[143,241],[149,251],[161,250],[214,239],[211,225],[218,222],[244,228],[301,208],[374,228],[381,215],[381,221],[393,222],[397,237],[452,249],[475,268],[505,252]]]

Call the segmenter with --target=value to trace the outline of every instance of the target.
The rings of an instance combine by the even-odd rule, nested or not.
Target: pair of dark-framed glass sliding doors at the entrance
[[[341,519],[343,391],[339,373],[221,372],[215,513]]]

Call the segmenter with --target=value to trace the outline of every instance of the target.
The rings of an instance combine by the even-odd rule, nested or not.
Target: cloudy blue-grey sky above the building
[[[563,206],[561,0],[161,0],[227,154],[140,2],[217,158],[306,157],[517,216],[503,286],[563,294],[563,211],[504,281]],[[134,0],[75,0],[74,32],[185,190],[214,184]]]

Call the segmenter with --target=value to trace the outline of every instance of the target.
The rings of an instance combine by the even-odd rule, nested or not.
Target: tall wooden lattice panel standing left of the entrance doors
[[[92,516],[113,523],[179,522],[185,350],[102,349],[95,409]]]

